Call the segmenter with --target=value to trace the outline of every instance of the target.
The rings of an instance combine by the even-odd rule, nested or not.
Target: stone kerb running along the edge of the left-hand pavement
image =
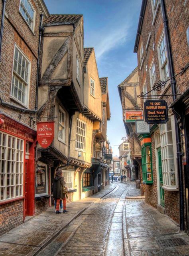
[[[116,188],[116,186],[114,186],[114,188],[112,188],[112,190],[110,190],[108,193],[102,195],[100,199],[102,199],[104,196],[106,196],[107,194],[109,194],[110,192],[112,192],[114,189]],[[27,256],[35,256],[37,255],[41,250],[43,250],[48,244],[50,244],[65,228],[67,228],[67,226],[69,226],[69,224],[71,222],[73,222],[73,220],[75,220],[77,217],[79,217],[83,212],[85,212],[85,210],[87,210],[92,204],[94,204],[95,202],[91,202],[91,204],[89,204],[87,207],[81,209],[77,214],[74,214],[72,219],[67,222],[67,224],[65,224],[64,226],[62,226],[58,231],[54,232],[50,238],[47,238],[43,245],[41,245],[39,248],[37,248],[37,250],[35,250],[35,252],[30,252]]]

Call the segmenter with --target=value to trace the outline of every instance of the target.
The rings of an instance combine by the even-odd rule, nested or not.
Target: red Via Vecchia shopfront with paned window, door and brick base
[[[0,118],[1,234],[35,214],[36,131],[4,114]]]

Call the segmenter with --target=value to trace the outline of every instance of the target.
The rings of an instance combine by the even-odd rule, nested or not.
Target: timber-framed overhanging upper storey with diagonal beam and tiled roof
[[[43,26],[39,90],[44,97],[54,91],[53,97],[59,95],[60,99],[63,98],[69,110],[81,112],[83,15],[53,14],[44,18]]]

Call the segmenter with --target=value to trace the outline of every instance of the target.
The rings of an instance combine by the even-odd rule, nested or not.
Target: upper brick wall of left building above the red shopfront
[[[4,102],[14,104],[19,107],[26,108],[22,104],[19,104],[14,99],[10,98],[11,83],[12,83],[12,70],[14,59],[14,47],[15,44],[24,52],[31,62],[31,74],[29,81],[29,105],[30,109],[35,108],[35,88],[36,88],[36,74],[37,74],[37,52],[39,42],[39,21],[40,13],[35,5],[35,2],[31,1],[36,13],[35,13],[35,29],[34,33],[30,30],[24,18],[19,13],[20,0],[7,1],[6,3],[6,15],[4,18],[4,33],[2,38],[2,52],[0,62],[0,97]],[[2,1],[0,1],[0,10],[2,10]],[[32,97],[31,97],[32,95]],[[5,112],[12,118],[19,120],[18,115],[20,111],[10,109],[5,106],[1,106],[2,112]],[[30,126],[30,118],[28,113],[23,113],[20,122]],[[32,128],[35,128],[35,123],[32,121]]]

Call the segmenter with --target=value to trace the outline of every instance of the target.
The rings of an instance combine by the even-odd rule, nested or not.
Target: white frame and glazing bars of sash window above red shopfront
[[[18,74],[18,62],[15,59],[15,53],[16,53],[16,49],[19,52],[19,55],[22,55],[22,60],[23,57],[26,59],[26,61],[28,62],[28,78],[27,81],[24,80],[24,78],[22,78],[22,76],[20,76],[20,74]],[[16,70],[14,70],[14,63],[17,62],[16,65]],[[25,74],[26,74],[26,70],[23,68]],[[21,67],[21,72],[22,72],[22,67]],[[10,92],[10,98],[14,99],[16,102],[18,102],[19,104],[28,107],[28,103],[29,103],[29,92],[30,92],[30,73],[31,73],[31,62],[28,59],[28,57],[24,54],[24,52],[22,52],[22,50],[15,44],[14,46],[14,60],[13,60],[13,66],[12,66],[12,82],[11,82],[11,92]],[[17,97],[14,96],[14,90],[15,90],[15,84],[13,85],[13,82],[15,83],[15,79],[17,78],[18,83],[21,82],[23,84],[26,85],[26,92],[25,92],[25,102],[22,102],[22,100],[19,100]],[[23,88],[23,84],[22,84],[22,88]],[[13,88],[14,87],[14,88]],[[18,91],[19,91],[19,85],[18,85]],[[21,92],[23,92],[23,90],[20,90]]]

